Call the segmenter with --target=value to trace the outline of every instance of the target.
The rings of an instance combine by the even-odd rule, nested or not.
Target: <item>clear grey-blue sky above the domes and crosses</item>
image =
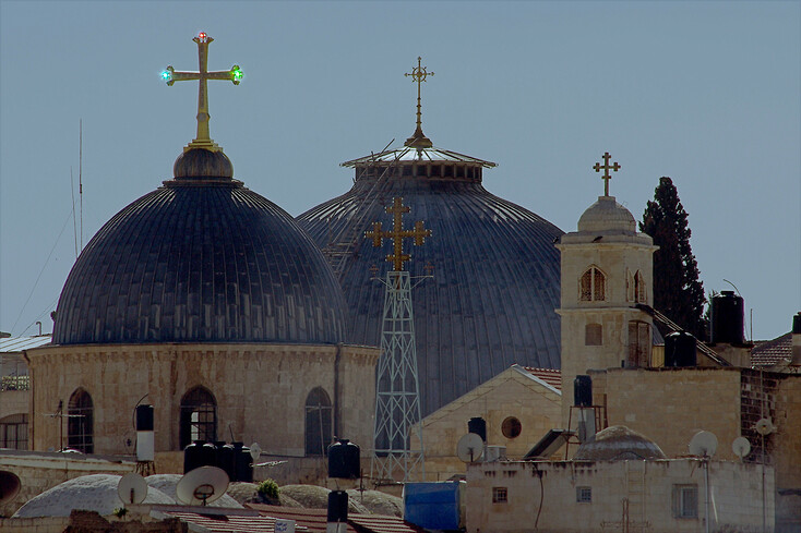
[[[420,56],[425,133],[497,162],[490,192],[575,231],[609,152],[638,220],[673,180],[746,338],[801,310],[801,2],[0,0],[0,331],[51,331],[81,242],[171,178],[198,87],[160,73],[198,70],[199,32],[244,72],[210,82],[212,137],[292,216],[413,133]]]

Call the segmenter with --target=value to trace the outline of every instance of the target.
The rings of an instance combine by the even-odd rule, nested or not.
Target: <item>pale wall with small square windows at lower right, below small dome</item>
[[[706,531],[702,461],[494,462],[468,467],[467,532],[702,533]],[[762,532],[762,467],[710,461],[710,531]],[[695,487],[695,517],[679,518],[677,486]],[[774,471],[765,472],[764,516],[773,531]],[[505,489],[505,494],[500,494]],[[579,495],[589,501],[577,501]],[[504,501],[505,499],[505,501]]]

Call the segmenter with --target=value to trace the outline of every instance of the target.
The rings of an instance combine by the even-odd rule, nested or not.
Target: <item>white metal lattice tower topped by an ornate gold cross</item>
[[[373,229],[364,234],[373,240],[374,246],[381,246],[384,239],[393,240],[393,253],[386,261],[393,263],[394,269],[382,280],[385,284],[384,314],[375,383],[374,452],[370,467],[370,476],[378,483],[413,481],[418,471],[419,479],[425,479],[413,286],[409,272],[404,270],[404,263],[411,255],[403,253],[403,240],[414,238],[415,245],[422,245],[431,230],[425,229],[421,221],[415,223],[414,230],[404,230],[403,214],[408,211],[409,207],[396,197],[386,208],[386,213],[394,216],[392,231],[383,231],[381,222],[374,222]]]

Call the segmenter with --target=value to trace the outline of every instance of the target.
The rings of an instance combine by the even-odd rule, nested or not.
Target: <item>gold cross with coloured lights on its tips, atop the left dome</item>
[[[239,85],[242,81],[242,71],[238,64],[231,66],[229,71],[208,72],[208,45],[214,39],[201,32],[198,37],[193,38],[198,43],[198,62],[200,63],[200,72],[177,72],[172,65],[167,66],[162,73],[162,77],[167,85],[184,80],[199,80],[200,88],[198,89],[198,136],[183,148],[184,152],[192,148],[204,148],[210,152],[218,152],[220,148],[212,141],[208,134],[208,93],[206,90],[207,80],[230,80],[234,85]]]

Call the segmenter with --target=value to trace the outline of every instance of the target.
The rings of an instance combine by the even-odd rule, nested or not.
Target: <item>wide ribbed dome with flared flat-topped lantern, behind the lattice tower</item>
[[[374,161],[369,166],[370,161]],[[488,161],[438,148],[402,148],[344,163],[358,180],[346,194],[310,209],[298,221],[321,247],[344,235],[356,242],[342,274],[354,342],[380,344],[384,286],[391,253],[363,238],[372,222],[391,227],[385,207],[402,196],[411,211],[406,228],[423,220],[432,230],[423,246],[404,245],[413,276],[433,266],[433,279],[413,291],[423,416],[512,364],[560,365],[560,264],[553,245],[562,231],[481,185]],[[376,177],[391,167],[390,177]],[[374,189],[373,189],[374,187]],[[375,203],[369,198],[378,197]],[[328,250],[333,250],[330,247]],[[336,261],[336,255],[331,256]]]

